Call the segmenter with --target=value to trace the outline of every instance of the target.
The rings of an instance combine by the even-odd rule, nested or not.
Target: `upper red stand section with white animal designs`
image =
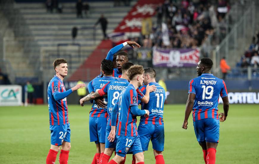
[[[114,32],[140,32],[142,27],[142,19],[152,17],[156,13],[159,3],[164,0],[139,0],[129,11],[128,15],[116,27]]]

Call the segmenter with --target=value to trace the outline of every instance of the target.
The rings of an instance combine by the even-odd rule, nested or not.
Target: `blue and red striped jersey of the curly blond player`
[[[129,84],[118,98],[118,125],[116,135],[137,136],[137,118],[132,114],[130,107],[138,106],[137,91],[132,84]]]

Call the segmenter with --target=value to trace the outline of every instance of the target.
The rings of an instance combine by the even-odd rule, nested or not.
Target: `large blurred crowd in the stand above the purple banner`
[[[156,25],[152,27],[149,35],[139,38],[142,40],[142,47],[199,47],[208,35],[213,35],[217,24],[223,23],[222,18],[230,10],[227,0],[218,0],[216,4],[210,2],[165,0],[156,9]],[[169,38],[169,41],[165,42],[164,37]]]

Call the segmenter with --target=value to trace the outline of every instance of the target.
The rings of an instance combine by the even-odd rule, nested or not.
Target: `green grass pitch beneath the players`
[[[88,118],[91,107],[69,105],[71,150],[68,163],[90,164],[95,144],[89,142]],[[204,163],[196,141],[192,117],[182,129],[185,105],[165,105],[165,163]],[[223,112],[219,105],[219,112]],[[0,163],[46,163],[50,148],[48,106],[0,107]],[[131,163],[128,155],[126,163]],[[58,157],[56,160],[58,163]],[[152,144],[145,152],[145,163],[155,164]],[[216,163],[259,163],[259,105],[230,105],[229,115],[220,123]]]

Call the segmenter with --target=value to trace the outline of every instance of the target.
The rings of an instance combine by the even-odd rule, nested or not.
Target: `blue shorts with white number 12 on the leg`
[[[143,152],[141,148],[139,135],[135,137],[116,135],[116,137],[117,137],[116,153],[119,156],[125,157],[126,154],[134,155],[139,152]]]

